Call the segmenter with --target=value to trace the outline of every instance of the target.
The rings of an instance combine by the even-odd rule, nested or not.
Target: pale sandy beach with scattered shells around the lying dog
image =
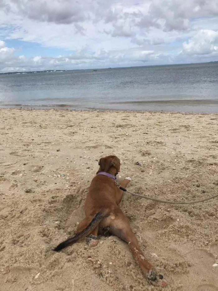
[[[0,290],[163,290],[115,236],[51,250],[74,234],[97,161],[109,154],[132,192],[174,201],[218,194],[217,114],[1,109]],[[121,209],[165,290],[218,290],[217,205],[124,194]]]

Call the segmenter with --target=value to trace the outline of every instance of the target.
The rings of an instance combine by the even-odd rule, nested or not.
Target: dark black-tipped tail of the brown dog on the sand
[[[54,251],[59,251],[62,250],[66,247],[68,247],[69,245],[73,245],[74,243],[76,243],[78,240],[81,240],[83,237],[86,237],[87,235],[90,234],[90,232],[92,232],[92,230],[94,230],[96,228],[96,226],[98,226],[98,224],[100,223],[100,221],[107,217],[109,214],[107,213],[102,213],[102,212],[98,212],[94,218],[92,219],[92,221],[89,223],[89,225],[81,232],[78,232],[75,236],[69,238],[68,240],[63,241],[62,243],[60,243],[55,249]]]

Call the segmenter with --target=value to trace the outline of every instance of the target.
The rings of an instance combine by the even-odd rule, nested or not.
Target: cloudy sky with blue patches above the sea
[[[0,72],[218,61],[218,0],[0,0]]]

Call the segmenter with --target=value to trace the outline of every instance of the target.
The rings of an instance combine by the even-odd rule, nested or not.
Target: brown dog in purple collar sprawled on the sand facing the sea
[[[78,225],[77,234],[59,244],[54,250],[62,250],[84,237],[87,237],[87,242],[92,246],[97,245],[98,233],[102,234],[106,229],[128,243],[142,271],[148,279],[156,281],[158,278],[152,270],[152,265],[145,259],[127,217],[118,206],[123,196],[123,191],[115,184],[115,176],[120,171],[120,160],[116,156],[108,156],[101,158],[98,164],[99,170],[92,179],[85,201],[86,218]],[[130,178],[124,179],[120,186],[125,188],[129,181]]]

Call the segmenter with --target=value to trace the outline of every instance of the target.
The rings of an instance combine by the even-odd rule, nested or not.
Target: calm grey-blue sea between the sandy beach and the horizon
[[[218,113],[218,63],[1,74],[0,107]]]

